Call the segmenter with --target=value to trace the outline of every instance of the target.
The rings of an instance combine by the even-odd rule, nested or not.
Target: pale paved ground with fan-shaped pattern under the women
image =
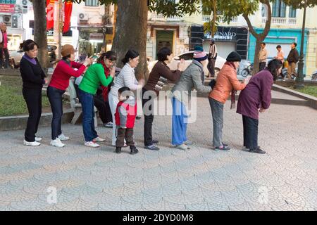
[[[0,132],[0,210],[317,210],[317,111],[271,105],[261,115],[259,144],[266,155],[242,149],[242,117],[225,105],[224,139],[230,152],[211,150],[211,110],[198,98],[194,141],[187,151],[170,148],[170,116],[156,116],[158,152],[117,155],[111,129],[101,148],[83,146],[82,127],[64,124],[65,148],[26,147],[24,131]]]

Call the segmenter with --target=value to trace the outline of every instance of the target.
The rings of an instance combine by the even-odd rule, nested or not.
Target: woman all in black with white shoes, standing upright
[[[27,103],[29,118],[25,129],[25,146],[39,146],[42,138],[36,137],[39,119],[42,114],[42,87],[45,73],[37,60],[38,45],[35,41],[23,42],[25,54],[20,61],[20,73],[23,80],[23,97]]]

